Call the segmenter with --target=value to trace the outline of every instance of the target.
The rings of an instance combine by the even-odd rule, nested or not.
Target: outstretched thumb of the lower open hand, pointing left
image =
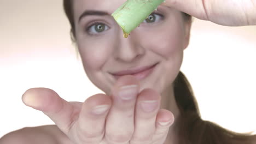
[[[77,106],[74,107],[48,88],[28,89],[22,95],[22,101],[27,106],[44,112],[65,134],[68,133],[69,127],[73,123],[77,111],[79,111],[76,109]]]

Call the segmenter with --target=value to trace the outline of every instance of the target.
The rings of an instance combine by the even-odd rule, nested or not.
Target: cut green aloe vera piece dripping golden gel
[[[123,29],[124,37],[135,29],[165,0],[127,0],[112,16]]]

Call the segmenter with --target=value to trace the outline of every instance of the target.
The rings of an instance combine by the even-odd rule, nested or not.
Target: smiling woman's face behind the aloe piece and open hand
[[[89,79],[107,94],[122,75],[134,75],[141,90],[171,86],[189,42],[190,23],[160,5],[128,38],[111,14],[125,0],[76,0],[75,37]]]

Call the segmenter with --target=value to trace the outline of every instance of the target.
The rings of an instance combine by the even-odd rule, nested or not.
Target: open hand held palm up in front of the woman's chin
[[[96,94],[84,103],[74,103],[51,89],[32,88],[22,100],[43,111],[78,144],[163,144],[174,117],[170,111],[159,110],[161,97],[153,89],[138,91],[135,77],[124,76],[114,85],[111,97]]]

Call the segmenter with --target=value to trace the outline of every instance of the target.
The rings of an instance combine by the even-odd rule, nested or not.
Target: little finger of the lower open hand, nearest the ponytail
[[[173,122],[174,116],[172,112],[165,109],[159,110],[156,116],[156,130],[153,136],[153,139],[158,141],[156,143],[164,143]]]

